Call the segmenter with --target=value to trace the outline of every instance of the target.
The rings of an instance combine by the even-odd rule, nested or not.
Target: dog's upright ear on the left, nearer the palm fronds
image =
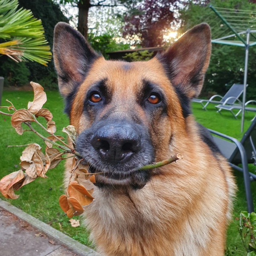
[[[81,33],[64,22],[54,29],[53,56],[59,89],[65,97],[83,81],[90,65],[99,57]]]

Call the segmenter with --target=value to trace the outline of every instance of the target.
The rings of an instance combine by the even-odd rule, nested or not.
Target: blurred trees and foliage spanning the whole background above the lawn
[[[81,1],[80,1],[81,2]],[[212,13],[209,4],[231,9],[256,11],[255,0],[87,0],[87,39],[92,47],[109,58],[108,52],[140,47],[171,45],[186,30],[206,22]],[[53,30],[59,21],[79,23],[79,0],[19,0],[20,7],[31,9],[42,20],[45,37],[52,50]],[[76,9],[75,12],[74,9]],[[81,21],[80,21],[81,23]],[[214,32],[214,31],[213,31]],[[146,52],[145,52],[146,53]],[[128,53],[132,60],[151,58]],[[201,96],[224,94],[233,83],[243,83],[244,47],[212,44],[212,56]],[[131,55],[131,56],[130,56]],[[134,55],[134,56],[133,56]],[[256,46],[249,49],[247,99],[256,99]],[[57,90],[58,81],[53,60],[47,67],[35,62],[15,63],[0,57],[0,76],[5,86],[21,87],[29,81]]]

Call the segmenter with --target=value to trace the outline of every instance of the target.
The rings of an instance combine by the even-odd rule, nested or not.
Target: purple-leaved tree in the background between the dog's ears
[[[123,36],[138,36],[141,46],[157,47],[163,44],[163,35],[175,20],[172,8],[177,0],[145,0],[135,3],[137,14],[126,15]]]

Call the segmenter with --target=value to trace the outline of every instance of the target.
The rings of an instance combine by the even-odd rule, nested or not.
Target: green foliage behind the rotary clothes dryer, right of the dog
[[[205,22],[207,15],[212,15],[212,10],[208,7],[218,6],[230,9],[244,9],[256,11],[256,1],[250,0],[210,0],[201,3],[189,1],[185,8],[179,10],[180,34],[186,32],[198,23]],[[212,28],[212,35],[215,35]],[[253,40],[254,38],[252,38]],[[221,94],[227,92],[232,84],[244,83],[244,47],[230,46],[223,44],[212,44],[212,55],[204,81],[201,96]],[[248,77],[247,77],[247,100],[256,99],[256,46],[249,48]]]

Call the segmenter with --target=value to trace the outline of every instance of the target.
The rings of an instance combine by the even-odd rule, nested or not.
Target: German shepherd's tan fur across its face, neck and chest
[[[209,60],[206,63],[204,70]],[[94,187],[95,199],[84,207],[90,238],[105,256],[224,255],[236,189],[227,161],[221,154],[214,156],[203,142],[194,117],[183,117],[180,101],[157,58],[131,63],[128,69],[124,65],[103,57],[93,63],[73,100],[70,124],[78,133],[90,127],[92,118],[82,111],[84,95],[90,84],[107,77],[113,99],[101,115],[111,107],[116,109],[115,116],[133,111],[150,128],[155,161],[175,153],[182,154],[183,160],[153,172],[138,190],[99,190],[79,179],[86,187]],[[133,103],[142,78],[160,84],[168,101],[165,116],[155,113],[152,120]],[[70,164],[67,161],[67,177]]]

